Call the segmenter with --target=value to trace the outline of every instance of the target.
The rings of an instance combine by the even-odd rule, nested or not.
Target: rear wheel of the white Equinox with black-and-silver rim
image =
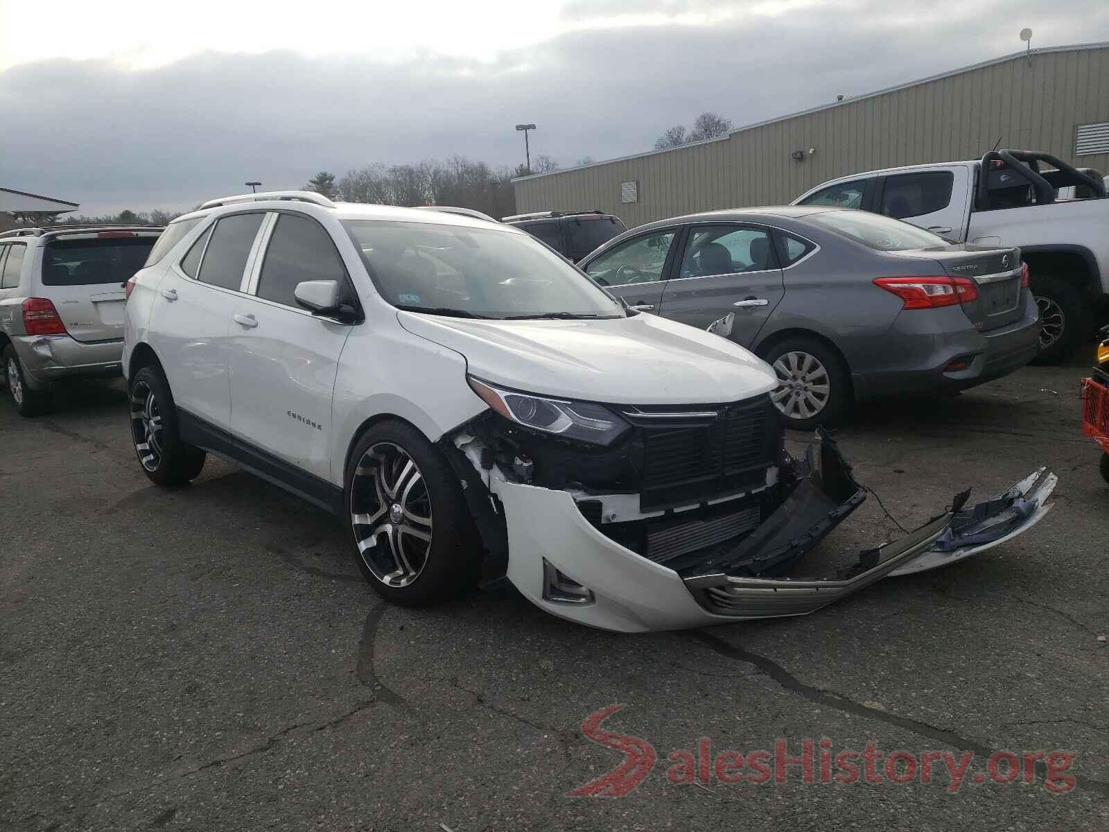
[[[131,379],[131,439],[143,474],[161,486],[183,486],[204,468],[206,454],[181,440],[170,385],[155,367]]]

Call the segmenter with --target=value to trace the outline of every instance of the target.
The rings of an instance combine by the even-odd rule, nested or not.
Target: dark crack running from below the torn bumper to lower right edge
[[[685,638],[700,642],[719,656],[746,662],[747,664],[753,664],[760,672],[767,676],[783,689],[790,691],[791,693],[796,693],[814,704],[832,708],[841,713],[849,713],[854,717],[862,717],[864,719],[884,722],[887,726],[901,728],[902,730],[909,731],[918,737],[926,737],[929,740],[942,742],[945,745],[949,745],[962,751],[973,751],[978,757],[988,758],[995,751],[995,749],[967,737],[962,737],[954,731],[937,728],[936,726],[929,726],[927,722],[913,719],[912,717],[902,717],[897,713],[859,704],[858,702],[846,699],[838,693],[815,688],[812,684],[805,684],[773,659],[760,656],[759,653],[753,653],[750,650],[744,650],[742,647],[732,645],[731,642],[705,632],[704,630],[693,630],[685,633]],[[1036,763],[1036,771],[1040,778],[1046,778],[1047,767],[1045,764],[1039,762]],[[1089,791],[1103,797],[1109,797],[1109,782],[1091,780],[1078,774],[1075,775],[1075,781],[1083,789],[1088,789]]]

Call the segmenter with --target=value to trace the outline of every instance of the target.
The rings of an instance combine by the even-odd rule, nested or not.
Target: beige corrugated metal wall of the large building
[[[723,207],[787,203],[813,185],[904,164],[1040,150],[1109,173],[1109,153],[1076,158],[1079,124],[1109,121],[1109,47],[1032,52],[675,150],[515,182],[517,211],[601,209],[628,227]],[[816,152],[808,154],[808,149]],[[805,152],[803,162],[791,159]],[[567,151],[569,154],[570,151]],[[639,201],[621,204],[620,183]]]

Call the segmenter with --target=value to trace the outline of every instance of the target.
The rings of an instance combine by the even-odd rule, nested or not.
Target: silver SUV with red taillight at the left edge
[[[120,375],[126,281],[161,233],[51,225],[0,234],[2,378],[21,415],[47,410],[60,378]]]

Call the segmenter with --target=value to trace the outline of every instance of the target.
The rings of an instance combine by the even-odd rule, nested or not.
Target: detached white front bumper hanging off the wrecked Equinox
[[[478,468],[472,437],[457,437],[455,444]],[[1057,481],[1041,468],[976,506],[966,506],[969,491],[955,495],[934,519],[861,552],[834,577],[766,577],[795,565],[865,499],[851,466],[823,433],[806,461],[791,464],[792,490],[757,527],[734,545],[708,547],[676,566],[655,562],[603,534],[569,490],[513,481],[496,466],[478,474],[503,515],[506,574],[516,588],[552,615],[623,632],[813,612],[888,575],[946,566],[1022,534],[1050,510]],[[472,478],[470,484],[479,485]],[[550,591],[556,579],[580,591]]]

